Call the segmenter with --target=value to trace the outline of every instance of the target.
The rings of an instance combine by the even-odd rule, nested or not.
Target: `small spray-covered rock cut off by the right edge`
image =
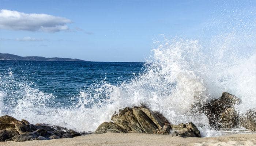
[[[246,129],[256,131],[256,108],[248,110],[245,115],[242,115],[240,123]]]

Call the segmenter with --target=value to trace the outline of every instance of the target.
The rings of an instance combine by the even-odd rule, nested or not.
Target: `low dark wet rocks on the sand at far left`
[[[30,124],[11,116],[0,117],[0,141],[30,141],[56,138],[72,138],[81,135],[74,130],[49,124]]]

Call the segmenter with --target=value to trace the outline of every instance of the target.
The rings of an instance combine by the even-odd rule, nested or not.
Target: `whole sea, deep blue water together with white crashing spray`
[[[146,105],[172,124],[193,122],[203,137],[246,133],[214,130],[191,112],[222,92],[242,100],[240,114],[256,108],[255,42],[236,36],[164,38],[144,62],[0,61],[0,116],[95,131],[119,109]]]

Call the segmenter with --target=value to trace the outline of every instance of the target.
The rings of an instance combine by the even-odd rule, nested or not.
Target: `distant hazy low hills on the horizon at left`
[[[46,57],[39,57],[39,56],[26,56],[21,57],[18,55],[13,54],[4,54],[0,53],[0,60],[27,60],[27,61],[84,61],[80,59],[71,59],[71,58],[59,58],[59,57],[53,57],[53,58],[46,58]]]

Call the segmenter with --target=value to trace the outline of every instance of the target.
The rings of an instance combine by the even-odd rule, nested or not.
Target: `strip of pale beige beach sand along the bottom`
[[[0,142],[0,146],[256,146],[256,134],[181,138],[171,135],[105,133],[47,141]]]

